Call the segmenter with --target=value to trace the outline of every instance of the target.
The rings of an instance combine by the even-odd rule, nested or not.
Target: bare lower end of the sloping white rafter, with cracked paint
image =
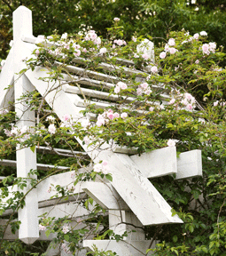
[[[123,154],[98,152],[95,161],[106,160],[113,176],[113,188],[129,205],[138,220],[145,225],[183,223],[177,215],[172,217],[171,207],[152,183],[143,176],[136,164]]]

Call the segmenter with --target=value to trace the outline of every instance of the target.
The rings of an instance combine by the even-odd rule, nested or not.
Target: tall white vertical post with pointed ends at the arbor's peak
[[[19,71],[26,68],[24,60],[29,54],[29,50],[21,40],[22,36],[32,36],[32,13],[25,6],[13,12],[13,48],[14,48],[14,94],[15,94],[15,111],[19,121],[17,126],[35,126],[35,113],[28,109],[27,104],[22,100],[18,100],[24,93],[31,92],[34,87],[28,81],[26,76],[17,75]],[[36,169],[36,152],[33,153],[30,148],[17,148],[17,176],[27,177],[27,173],[31,169]],[[36,178],[35,176],[32,176]],[[24,188],[23,193],[31,188],[27,181],[27,188]],[[19,209],[18,215],[21,221],[19,227],[19,239],[26,244],[33,244],[39,237],[38,230],[38,198],[36,189],[32,189],[25,198],[25,207]]]

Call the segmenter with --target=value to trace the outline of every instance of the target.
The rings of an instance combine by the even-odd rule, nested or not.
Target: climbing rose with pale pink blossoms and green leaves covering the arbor
[[[64,120],[59,120],[38,92],[27,93],[20,100],[25,100],[29,108],[35,110],[37,124],[19,130],[15,125],[16,113],[13,107],[1,109],[1,159],[13,159],[18,144],[20,148],[29,147],[32,150],[39,146],[48,146],[52,150],[70,149],[69,156],[58,152],[54,156],[37,154],[38,161],[68,166],[68,171],[72,171],[72,182],[68,186],[62,188],[59,184],[56,188],[46,188],[46,191],[55,191],[56,196],[65,198],[73,195],[79,181],[112,180],[111,168],[105,159],[98,164],[90,164],[88,156],[73,153],[74,150],[82,150],[82,146],[92,150],[101,148],[105,142],[109,147],[116,143],[136,148],[136,154],[174,145],[179,153],[201,149],[203,177],[175,180],[173,175],[168,175],[151,180],[174,209],[172,214],[178,214],[184,223],[147,227],[144,228],[145,234],[147,239],[154,237],[160,241],[155,249],[150,249],[154,255],[224,255],[226,69],[221,67],[221,63],[225,53],[221,46],[208,42],[205,31],[190,35],[188,31],[182,30],[170,32],[168,38],[164,39],[165,43],[155,45],[153,54],[152,43],[142,36],[133,36],[130,42],[124,41],[123,30],[118,22],[115,19],[113,28],[108,29],[108,40],[97,36],[94,30],[77,35],[38,36],[33,58],[25,60],[27,69],[34,70],[41,66],[49,70],[50,77],[44,80],[64,84],[66,81],[63,75],[66,74],[71,77],[70,85],[80,90],[82,88],[77,80],[82,79],[82,76],[74,79],[67,68],[74,62],[85,70],[118,76],[120,81],[114,81],[110,91],[104,85],[101,87],[103,92],[109,92],[109,97],[118,97],[117,104],[105,109],[95,108],[95,104],[89,104],[90,100],[83,95],[87,105],[82,112],[84,117],[74,120],[65,113]],[[149,39],[152,40],[152,37]],[[144,51],[145,47],[147,51]],[[103,63],[113,68],[105,69]],[[21,74],[26,71],[22,70]],[[82,143],[79,144],[74,138]],[[10,220],[13,220],[19,207],[23,207],[26,195],[15,192],[5,203],[7,186],[26,187],[27,179],[16,178],[13,170],[2,168],[3,174],[10,175],[2,183],[0,212],[4,214],[6,210],[12,209]],[[79,172],[80,168],[86,171]],[[54,169],[48,173],[31,170],[31,174],[37,174],[38,180],[28,179],[32,180],[35,188],[41,180],[58,172]],[[47,236],[57,233],[53,242],[74,254],[81,249],[82,239],[90,235],[96,239],[109,236],[116,240],[123,238],[108,230],[105,210],[91,198],[82,198],[78,204],[87,209],[90,209],[90,204],[93,205],[89,216],[77,218],[69,226],[72,216],[56,220],[48,217],[46,212],[40,220],[40,230],[45,230]],[[12,231],[19,228],[17,221],[11,224]],[[100,225],[103,228],[98,232],[97,227]],[[18,255],[16,247],[20,250],[19,255],[24,253],[22,246],[20,249],[18,245],[10,248],[6,241],[1,240],[0,243],[2,252],[7,251],[9,255]],[[42,253],[37,248],[29,250],[36,252],[34,255]],[[91,253],[114,255],[113,252],[97,252],[97,248]]]

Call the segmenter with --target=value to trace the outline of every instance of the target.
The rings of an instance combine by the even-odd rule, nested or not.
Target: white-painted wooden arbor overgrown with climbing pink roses
[[[35,68],[35,71],[28,70],[22,76],[17,75],[21,69],[25,68],[23,60],[29,58],[36,48],[35,42],[36,38],[32,34],[32,13],[26,7],[20,6],[13,12],[13,46],[0,74],[0,109],[8,108],[9,101],[14,100],[16,113],[19,117],[17,126],[35,125],[35,113],[27,110],[27,105],[17,99],[25,92],[37,90],[45,97],[46,102],[61,120],[65,114],[73,116],[74,119],[82,117],[80,111],[84,109],[85,102],[79,95],[80,91],[77,87],[69,84],[58,87],[58,82],[47,83],[40,80],[39,77],[49,76],[48,70],[45,68],[39,67]],[[76,62],[81,63],[81,61],[79,58],[74,59],[75,64]],[[105,63],[100,65],[101,68],[113,68]],[[82,84],[90,84],[98,88],[98,84],[104,83],[106,87],[111,88],[119,81],[117,76],[110,77],[76,66],[67,68],[75,74],[75,79],[78,76],[84,76],[81,86]],[[128,74],[136,73],[135,70],[129,68],[124,68],[124,70]],[[65,79],[68,83],[70,82],[69,77],[65,76]],[[12,86],[4,90],[9,84]],[[53,90],[54,88],[55,90]],[[98,107],[105,108],[110,104],[104,101],[106,98],[109,100],[107,92],[97,92],[87,88],[82,88],[82,92],[87,96],[99,97],[102,101],[97,101]],[[115,100],[114,96],[111,97],[110,100]],[[162,97],[167,98],[168,96],[162,95]],[[82,141],[78,141],[82,145]],[[119,243],[115,240],[84,240],[83,246],[85,248],[92,250],[92,245],[96,244],[98,249],[113,250],[120,256],[144,255],[150,246],[150,241],[144,239],[144,231],[141,227],[165,223],[183,223],[177,215],[172,216],[171,207],[148,179],[173,173],[175,173],[175,179],[187,179],[202,175],[200,150],[182,153],[177,158],[175,147],[157,149],[141,156],[129,156],[128,151],[124,148],[115,147],[114,150],[105,149],[99,152],[97,149],[90,151],[90,148],[86,148],[84,145],[82,147],[96,163],[100,160],[108,161],[113,182],[105,183],[100,180],[98,182],[83,182],[75,188],[74,195],[84,196],[87,194],[107,209],[109,226],[116,234],[122,235],[124,231],[136,230],[136,233],[131,233]],[[5,159],[0,164],[16,165],[18,177],[27,177],[27,172],[31,169],[42,168],[42,164],[36,163],[36,152],[32,152],[30,148],[18,150],[16,162],[9,162]],[[63,166],[58,168],[64,169]],[[37,188],[26,196],[26,206],[19,209],[18,212],[21,221],[18,234],[20,240],[26,244],[32,244],[37,239],[47,239],[43,233],[40,236],[38,230],[38,216],[44,211],[47,212],[51,204],[55,204],[50,200],[52,194],[46,193],[46,188],[50,187],[50,184],[66,186],[70,182],[70,172],[56,174],[43,180]],[[73,205],[59,204],[51,214],[60,217],[65,214],[63,212],[73,211]],[[82,216],[86,212],[81,208],[77,214],[77,216]],[[129,226],[129,223],[133,226]],[[12,239],[11,236],[12,234],[6,233],[5,238]],[[55,254],[50,252],[49,255]]]

